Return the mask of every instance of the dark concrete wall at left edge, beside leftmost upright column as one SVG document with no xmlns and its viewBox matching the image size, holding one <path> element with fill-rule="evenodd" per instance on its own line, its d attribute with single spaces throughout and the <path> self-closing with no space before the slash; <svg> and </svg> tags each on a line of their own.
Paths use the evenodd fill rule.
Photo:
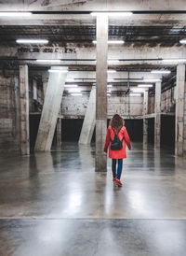
<svg viewBox="0 0 186 256">
<path fill-rule="evenodd" d="M 0 75 L 0 153 L 20 151 L 19 83 Z"/>
</svg>

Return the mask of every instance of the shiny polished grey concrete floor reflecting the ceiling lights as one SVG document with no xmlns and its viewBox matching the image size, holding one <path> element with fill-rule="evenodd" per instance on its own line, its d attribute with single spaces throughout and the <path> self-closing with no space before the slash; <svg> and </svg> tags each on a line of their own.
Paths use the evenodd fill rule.
<svg viewBox="0 0 186 256">
<path fill-rule="evenodd" d="M 185 255 L 186 159 L 133 143 L 116 188 L 94 158 L 66 144 L 0 160 L 0 255 Z"/>
</svg>

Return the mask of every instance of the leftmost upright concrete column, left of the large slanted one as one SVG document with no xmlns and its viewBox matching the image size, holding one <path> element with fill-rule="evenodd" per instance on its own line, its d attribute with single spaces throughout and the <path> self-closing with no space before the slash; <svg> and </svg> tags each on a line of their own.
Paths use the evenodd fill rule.
<svg viewBox="0 0 186 256">
<path fill-rule="evenodd" d="M 30 154 L 28 65 L 20 65 L 20 152 Z"/>
</svg>

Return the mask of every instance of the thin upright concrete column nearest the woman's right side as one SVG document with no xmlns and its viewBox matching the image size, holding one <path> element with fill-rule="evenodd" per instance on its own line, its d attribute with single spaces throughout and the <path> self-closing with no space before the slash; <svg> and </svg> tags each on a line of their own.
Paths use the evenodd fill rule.
<svg viewBox="0 0 186 256">
<path fill-rule="evenodd" d="M 143 95 L 143 149 L 147 149 L 148 145 L 148 120 L 145 115 L 148 114 L 148 91 L 144 92 Z"/>
</svg>

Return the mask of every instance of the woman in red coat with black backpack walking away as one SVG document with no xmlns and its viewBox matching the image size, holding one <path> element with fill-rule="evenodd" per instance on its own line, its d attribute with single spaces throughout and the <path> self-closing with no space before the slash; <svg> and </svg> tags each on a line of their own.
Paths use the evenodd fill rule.
<svg viewBox="0 0 186 256">
<path fill-rule="evenodd" d="M 124 126 L 124 119 L 115 114 L 107 130 L 104 154 L 107 155 L 109 147 L 109 157 L 112 158 L 113 182 L 119 187 L 122 186 L 120 181 L 123 167 L 123 159 L 126 158 L 126 145 L 131 149 L 130 139 Z M 116 173 L 117 162 L 117 173 Z"/>
</svg>

